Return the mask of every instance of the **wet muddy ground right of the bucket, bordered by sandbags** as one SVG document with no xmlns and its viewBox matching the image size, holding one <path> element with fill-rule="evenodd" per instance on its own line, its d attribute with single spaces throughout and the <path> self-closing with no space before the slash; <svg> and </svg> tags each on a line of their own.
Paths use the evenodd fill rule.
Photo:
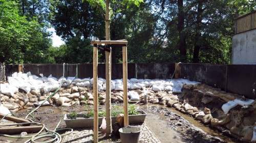
<svg viewBox="0 0 256 143">
<path fill-rule="evenodd" d="M 193 117 L 185 115 L 174 108 L 157 104 L 140 106 L 148 116 L 146 124 L 163 143 L 169 142 L 241 142 L 227 137 Z"/>
</svg>

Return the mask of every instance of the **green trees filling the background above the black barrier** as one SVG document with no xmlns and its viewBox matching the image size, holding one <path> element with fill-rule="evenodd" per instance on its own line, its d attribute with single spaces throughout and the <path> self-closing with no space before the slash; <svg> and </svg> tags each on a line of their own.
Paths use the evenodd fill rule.
<svg viewBox="0 0 256 143">
<path fill-rule="evenodd" d="M 129 62 L 229 64 L 234 18 L 256 2 L 111 0 L 110 6 L 110 39 L 128 40 Z M 105 39 L 104 12 L 103 0 L 0 0 L 0 62 L 90 63 L 90 40 Z M 52 46 L 50 27 L 66 44 Z M 113 52 L 120 62 L 121 49 Z"/>
</svg>

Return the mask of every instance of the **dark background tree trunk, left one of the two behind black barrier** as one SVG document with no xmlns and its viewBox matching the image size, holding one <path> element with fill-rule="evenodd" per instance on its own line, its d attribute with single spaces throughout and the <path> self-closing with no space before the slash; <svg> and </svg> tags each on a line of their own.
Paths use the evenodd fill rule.
<svg viewBox="0 0 256 143">
<path fill-rule="evenodd" d="M 178 32 L 179 32 L 179 50 L 181 62 L 186 62 L 186 35 L 184 32 L 185 14 L 183 9 L 183 0 L 177 1 L 178 5 Z"/>
</svg>

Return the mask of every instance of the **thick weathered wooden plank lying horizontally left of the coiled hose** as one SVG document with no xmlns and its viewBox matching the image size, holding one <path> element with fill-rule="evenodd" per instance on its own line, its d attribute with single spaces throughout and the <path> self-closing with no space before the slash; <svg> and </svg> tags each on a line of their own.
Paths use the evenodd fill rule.
<svg viewBox="0 0 256 143">
<path fill-rule="evenodd" d="M 42 129 L 42 126 L 19 126 L 19 127 L 1 127 L 0 133 L 2 134 L 15 134 L 21 132 L 38 132 Z"/>
</svg>

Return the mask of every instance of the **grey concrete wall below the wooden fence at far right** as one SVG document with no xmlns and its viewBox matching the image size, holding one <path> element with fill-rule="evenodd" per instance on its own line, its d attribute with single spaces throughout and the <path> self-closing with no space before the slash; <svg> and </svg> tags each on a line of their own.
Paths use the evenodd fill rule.
<svg viewBox="0 0 256 143">
<path fill-rule="evenodd" d="M 256 65 L 256 29 L 233 36 L 232 64 Z"/>
</svg>

